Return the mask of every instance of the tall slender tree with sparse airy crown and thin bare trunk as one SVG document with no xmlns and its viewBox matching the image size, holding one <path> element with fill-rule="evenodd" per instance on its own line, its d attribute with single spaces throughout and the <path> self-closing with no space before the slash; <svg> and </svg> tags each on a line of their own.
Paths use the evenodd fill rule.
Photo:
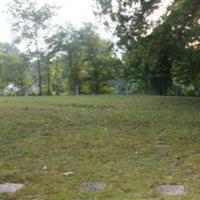
<svg viewBox="0 0 200 200">
<path fill-rule="evenodd" d="M 12 20 L 12 31 L 17 43 L 26 41 L 31 56 L 37 60 L 39 95 L 42 95 L 41 52 L 43 38 L 49 21 L 55 14 L 55 7 L 39 6 L 36 0 L 12 0 L 8 6 Z M 42 44 L 42 45 L 40 45 Z"/>
</svg>

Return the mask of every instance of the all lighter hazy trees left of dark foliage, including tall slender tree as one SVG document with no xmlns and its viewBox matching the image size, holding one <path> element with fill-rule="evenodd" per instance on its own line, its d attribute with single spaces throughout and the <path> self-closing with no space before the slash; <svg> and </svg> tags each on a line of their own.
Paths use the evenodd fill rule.
<svg viewBox="0 0 200 200">
<path fill-rule="evenodd" d="M 10 84 L 18 93 L 39 95 L 108 92 L 109 81 L 119 76 L 121 61 L 113 45 L 86 23 L 51 29 L 56 7 L 33 0 L 13 0 L 8 6 L 15 43 L 1 44 L 1 91 Z M 12 47 L 12 48 L 11 48 Z"/>
</svg>

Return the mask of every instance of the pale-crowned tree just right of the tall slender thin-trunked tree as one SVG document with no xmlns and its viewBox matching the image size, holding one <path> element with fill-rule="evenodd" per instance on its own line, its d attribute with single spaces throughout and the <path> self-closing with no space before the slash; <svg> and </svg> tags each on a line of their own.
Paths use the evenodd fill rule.
<svg viewBox="0 0 200 200">
<path fill-rule="evenodd" d="M 80 93 L 84 49 L 78 30 L 70 24 L 66 28 L 60 27 L 55 35 L 48 38 L 47 42 L 50 49 L 49 55 L 52 58 L 60 56 L 64 60 L 64 75 L 66 76 L 67 73 L 69 91 Z"/>
</svg>

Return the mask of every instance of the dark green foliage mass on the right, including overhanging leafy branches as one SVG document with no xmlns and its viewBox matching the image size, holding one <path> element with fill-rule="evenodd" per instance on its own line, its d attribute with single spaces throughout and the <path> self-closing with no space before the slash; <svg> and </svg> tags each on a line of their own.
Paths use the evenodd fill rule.
<svg viewBox="0 0 200 200">
<path fill-rule="evenodd" d="M 164 95 L 176 83 L 198 90 L 198 0 L 174 1 L 154 27 L 150 16 L 160 8 L 160 1 L 97 2 L 98 12 L 114 22 L 119 46 L 125 50 L 125 79 L 143 82 L 146 92 Z"/>
</svg>

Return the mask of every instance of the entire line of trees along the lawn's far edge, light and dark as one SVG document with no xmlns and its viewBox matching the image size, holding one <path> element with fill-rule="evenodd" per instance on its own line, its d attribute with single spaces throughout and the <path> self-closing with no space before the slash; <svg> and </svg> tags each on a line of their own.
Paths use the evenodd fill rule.
<svg viewBox="0 0 200 200">
<path fill-rule="evenodd" d="M 199 0 L 174 0 L 156 22 L 161 0 L 95 1 L 96 15 L 114 26 L 120 57 L 91 23 L 50 29 L 56 7 L 13 0 L 15 43 L 0 44 L 0 92 L 14 85 L 19 95 L 200 95 Z"/>
</svg>

